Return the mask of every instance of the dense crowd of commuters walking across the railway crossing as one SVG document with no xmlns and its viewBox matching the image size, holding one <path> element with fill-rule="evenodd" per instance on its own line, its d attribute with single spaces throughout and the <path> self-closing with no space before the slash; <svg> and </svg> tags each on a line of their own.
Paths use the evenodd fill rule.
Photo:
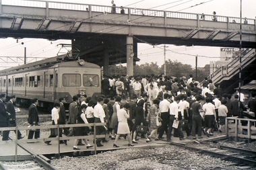
<svg viewBox="0 0 256 170">
<path fill-rule="evenodd" d="M 238 95 L 241 95 L 239 97 Z M 255 112 L 255 93 L 248 102 L 250 112 Z M 59 98 L 51 111 L 52 124 L 89 124 L 104 123 L 104 126 L 96 126 L 96 134 L 103 134 L 104 138 L 96 138 L 92 141 L 96 146 L 103 146 L 108 138 L 113 140 L 113 147 L 119 147 L 118 140 L 121 136 L 127 138 L 128 146 L 137 144 L 137 136 L 145 138 L 146 142 L 160 140 L 166 134 L 166 140 L 177 137 L 184 140 L 185 136 L 191 138 L 203 138 L 213 135 L 214 130 L 222 132 L 227 116 L 241 116 L 241 110 L 245 108 L 245 96 L 243 93 L 234 95 L 222 93 L 220 85 L 214 85 L 211 80 L 205 78 L 202 83 L 195 81 L 193 75 L 186 77 L 160 76 L 116 76 L 102 79 L 102 95 L 97 101 L 86 95 L 74 95 L 73 102 L 69 104 L 69 118 L 65 116 L 65 98 Z M 9 97 L 7 108 L 3 104 L 5 95 L 0 95 L 0 125 L 1 127 L 16 126 L 15 110 L 13 103 L 15 96 Z M 38 126 L 38 111 L 36 106 L 38 99 L 32 99 L 28 110 L 28 123 L 30 126 Z M 11 118 L 11 122 L 9 121 Z M 145 132 L 139 131 L 139 127 L 146 127 Z M 184 135 L 185 131 L 186 135 Z M 59 136 L 84 136 L 75 140 L 74 150 L 79 150 L 79 145 L 90 148 L 93 144 L 88 142 L 86 136 L 93 134 L 90 126 L 77 128 L 61 128 Z M 196 137 L 197 134 L 197 137 Z M 49 138 L 58 135 L 57 128 L 51 129 Z M 8 140 L 9 132 L 3 132 L 3 140 Z M 18 139 L 24 138 L 18 131 Z M 28 139 L 40 137 L 40 130 L 29 130 Z M 82 142 L 84 141 L 84 143 Z M 67 140 L 60 143 L 67 145 Z M 51 145 L 51 140 L 45 140 Z"/>
</svg>

